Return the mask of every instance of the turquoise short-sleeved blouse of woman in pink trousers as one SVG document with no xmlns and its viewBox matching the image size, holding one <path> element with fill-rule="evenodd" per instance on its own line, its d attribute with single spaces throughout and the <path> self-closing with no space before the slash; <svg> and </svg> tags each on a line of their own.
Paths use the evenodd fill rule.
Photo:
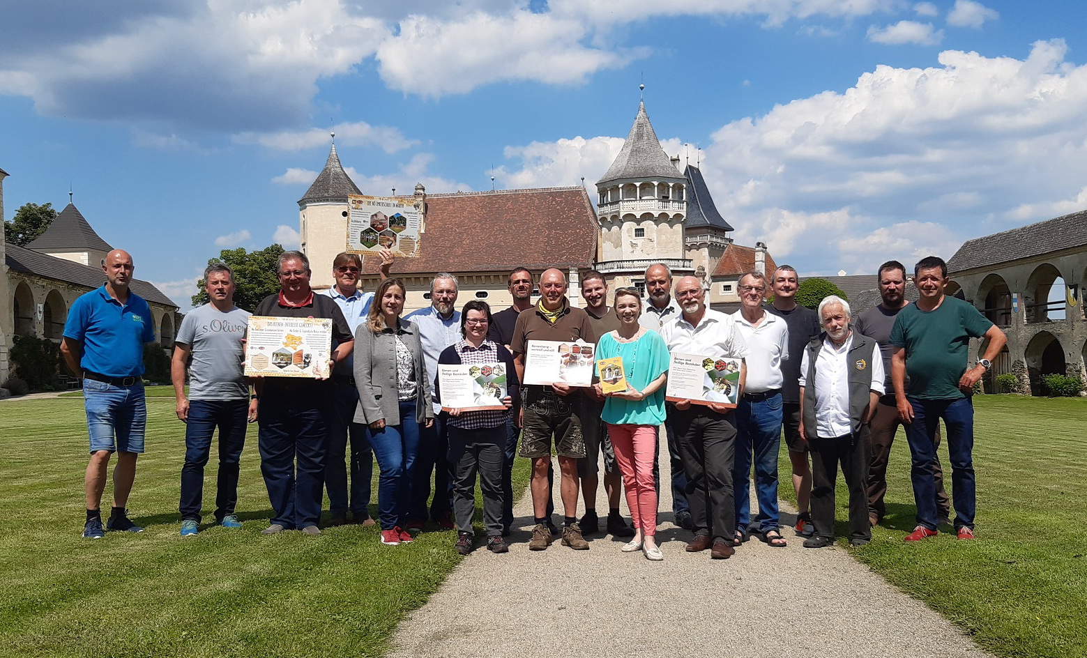
<svg viewBox="0 0 1087 658">
<path fill-rule="evenodd" d="M 623 357 L 626 381 L 639 391 L 669 370 L 669 346 L 655 331 L 646 331 L 645 336 L 628 343 L 621 343 L 610 332 L 605 333 L 597 341 L 597 358 L 615 356 Z M 639 401 L 608 396 L 600 417 L 611 425 L 660 425 L 664 422 L 664 387 Z"/>
</svg>

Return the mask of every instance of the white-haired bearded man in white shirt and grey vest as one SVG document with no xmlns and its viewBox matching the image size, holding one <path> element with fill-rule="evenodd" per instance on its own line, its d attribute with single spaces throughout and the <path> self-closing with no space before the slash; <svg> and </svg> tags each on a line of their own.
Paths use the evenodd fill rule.
<svg viewBox="0 0 1087 658">
<path fill-rule="evenodd" d="M 800 433 L 812 455 L 812 524 L 804 548 L 834 543 L 834 489 L 838 464 L 849 489 L 849 543 L 872 540 L 869 526 L 869 422 L 884 392 L 879 344 L 850 327 L 849 303 L 824 299 L 819 317 L 825 330 L 804 350 L 800 366 Z"/>
</svg>

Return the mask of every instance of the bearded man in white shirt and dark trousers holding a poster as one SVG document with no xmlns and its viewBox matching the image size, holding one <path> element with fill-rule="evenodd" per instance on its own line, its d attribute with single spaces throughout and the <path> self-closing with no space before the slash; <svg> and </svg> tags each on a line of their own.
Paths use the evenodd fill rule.
<svg viewBox="0 0 1087 658">
<path fill-rule="evenodd" d="M 745 358 L 748 354 L 736 324 L 724 313 L 705 307 L 705 291 L 697 277 L 683 277 L 676 284 L 683 315 L 661 328 L 669 352 L 710 358 Z M 740 367 L 740 391 L 747 366 Z M 710 557 L 724 559 L 736 553 L 733 533 L 733 459 L 736 426 L 733 409 L 723 403 L 694 405 L 675 403 L 670 420 L 675 427 L 679 456 L 687 474 L 687 503 L 695 539 L 689 553 L 711 548 Z"/>
</svg>

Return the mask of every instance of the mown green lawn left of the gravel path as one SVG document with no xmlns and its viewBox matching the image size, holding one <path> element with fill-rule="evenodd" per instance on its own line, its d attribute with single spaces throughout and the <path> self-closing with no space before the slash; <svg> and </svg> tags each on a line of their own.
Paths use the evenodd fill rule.
<svg viewBox="0 0 1087 658">
<path fill-rule="evenodd" d="M 242 455 L 243 527 L 183 540 L 184 430 L 172 390 L 148 394 L 148 453 L 129 502 L 147 530 L 99 541 L 79 536 L 82 398 L 0 403 L 0 656 L 379 656 L 397 622 L 460 560 L 452 532 L 398 547 L 359 526 L 317 537 L 261 535 L 270 509 L 255 428 Z M 514 488 L 523 491 L 527 460 L 517 461 Z M 214 501 L 213 465 L 205 505 Z"/>
</svg>

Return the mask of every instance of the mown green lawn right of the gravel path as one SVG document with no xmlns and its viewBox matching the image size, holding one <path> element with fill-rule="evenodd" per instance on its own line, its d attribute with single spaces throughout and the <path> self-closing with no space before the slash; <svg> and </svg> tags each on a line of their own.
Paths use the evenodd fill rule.
<svg viewBox="0 0 1087 658">
<path fill-rule="evenodd" d="M 977 540 L 960 542 L 944 527 L 937 537 L 902 541 L 915 524 L 915 508 L 910 451 L 899 431 L 887 518 L 874 541 L 852 553 L 998 656 L 1087 656 L 1087 400 L 975 401 Z M 950 494 L 946 448 L 941 461 Z M 788 458 L 780 464 L 782 494 L 791 496 Z M 839 486 L 842 520 L 846 496 Z M 842 522 L 838 533 L 848 534 Z"/>
</svg>

